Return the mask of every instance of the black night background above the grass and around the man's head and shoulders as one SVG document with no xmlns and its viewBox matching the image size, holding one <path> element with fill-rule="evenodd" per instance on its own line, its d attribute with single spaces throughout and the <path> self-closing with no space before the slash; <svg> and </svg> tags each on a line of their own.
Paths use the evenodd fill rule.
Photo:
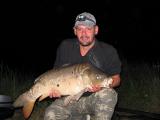
<svg viewBox="0 0 160 120">
<path fill-rule="evenodd" d="M 1 2 L 1 61 L 13 67 L 52 68 L 59 43 L 74 37 L 75 17 L 91 12 L 97 38 L 131 60 L 159 61 L 160 13 L 154 1 L 29 0 Z"/>
</svg>

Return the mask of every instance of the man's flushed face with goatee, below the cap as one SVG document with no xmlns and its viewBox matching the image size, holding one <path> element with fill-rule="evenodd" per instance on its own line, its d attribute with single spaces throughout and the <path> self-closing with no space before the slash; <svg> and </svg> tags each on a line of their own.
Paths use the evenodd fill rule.
<svg viewBox="0 0 160 120">
<path fill-rule="evenodd" d="M 98 33 L 98 26 L 88 27 L 78 25 L 74 28 L 74 33 L 82 46 L 89 46 L 95 40 L 95 35 Z"/>
</svg>

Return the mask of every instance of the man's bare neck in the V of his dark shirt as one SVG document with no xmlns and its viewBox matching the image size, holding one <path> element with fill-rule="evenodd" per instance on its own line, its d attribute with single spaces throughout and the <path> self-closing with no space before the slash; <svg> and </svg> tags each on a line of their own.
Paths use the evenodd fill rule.
<svg viewBox="0 0 160 120">
<path fill-rule="evenodd" d="M 81 55 L 85 56 L 88 53 L 88 51 L 94 46 L 94 44 L 95 44 L 95 41 L 92 44 L 90 44 L 89 46 L 80 45 L 80 53 L 81 53 Z"/>
</svg>

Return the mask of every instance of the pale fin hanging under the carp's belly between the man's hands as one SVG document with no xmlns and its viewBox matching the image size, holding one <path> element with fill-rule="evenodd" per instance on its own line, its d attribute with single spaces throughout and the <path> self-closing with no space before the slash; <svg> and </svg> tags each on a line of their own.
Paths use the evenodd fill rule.
<svg viewBox="0 0 160 120">
<path fill-rule="evenodd" d="M 69 103 L 72 103 L 74 101 L 78 101 L 84 92 L 86 92 L 86 89 L 83 89 L 81 92 L 79 92 L 75 95 L 67 96 L 64 100 L 64 105 L 67 106 Z"/>
</svg>

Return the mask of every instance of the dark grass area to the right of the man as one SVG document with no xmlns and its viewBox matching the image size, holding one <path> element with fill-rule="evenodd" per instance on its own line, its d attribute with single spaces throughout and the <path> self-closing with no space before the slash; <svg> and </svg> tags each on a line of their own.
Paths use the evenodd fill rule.
<svg viewBox="0 0 160 120">
<path fill-rule="evenodd" d="M 119 107 L 160 113 L 160 63 L 128 63 L 122 67 Z"/>
</svg>

